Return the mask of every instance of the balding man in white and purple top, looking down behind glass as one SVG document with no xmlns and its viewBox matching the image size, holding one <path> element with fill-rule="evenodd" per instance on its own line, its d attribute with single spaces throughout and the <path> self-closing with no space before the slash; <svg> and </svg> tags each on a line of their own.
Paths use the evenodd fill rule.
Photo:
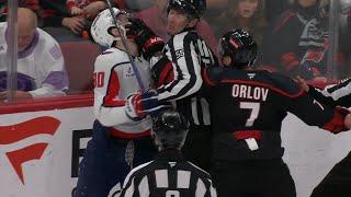
<svg viewBox="0 0 351 197">
<path fill-rule="evenodd" d="M 37 27 L 33 11 L 20 8 L 18 12 L 18 91 L 14 99 L 65 95 L 68 77 L 57 42 Z M 7 23 L 0 23 L 0 100 L 7 100 Z"/>
</svg>

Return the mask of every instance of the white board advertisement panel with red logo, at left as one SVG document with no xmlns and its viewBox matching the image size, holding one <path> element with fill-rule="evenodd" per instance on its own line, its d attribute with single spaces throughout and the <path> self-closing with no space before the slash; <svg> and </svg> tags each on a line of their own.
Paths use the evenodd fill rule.
<svg viewBox="0 0 351 197">
<path fill-rule="evenodd" d="M 70 197 L 92 107 L 0 115 L 1 197 Z"/>
</svg>

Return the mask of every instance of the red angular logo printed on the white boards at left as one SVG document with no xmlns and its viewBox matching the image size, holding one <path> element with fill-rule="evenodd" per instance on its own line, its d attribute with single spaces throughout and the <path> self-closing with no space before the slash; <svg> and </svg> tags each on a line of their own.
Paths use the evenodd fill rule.
<svg viewBox="0 0 351 197">
<path fill-rule="evenodd" d="M 15 125 L 0 126 L 0 146 L 11 144 L 41 134 L 54 136 L 59 124 L 60 121 L 56 118 L 43 116 Z M 5 153 L 23 185 L 22 164 L 39 160 L 47 146 L 46 142 L 38 142 Z"/>
</svg>

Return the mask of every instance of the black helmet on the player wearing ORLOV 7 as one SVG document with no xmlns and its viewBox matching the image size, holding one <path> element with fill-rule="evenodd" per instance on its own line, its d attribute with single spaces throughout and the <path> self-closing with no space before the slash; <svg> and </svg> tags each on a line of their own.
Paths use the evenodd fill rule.
<svg viewBox="0 0 351 197">
<path fill-rule="evenodd" d="M 257 44 L 245 30 L 231 30 L 219 39 L 219 54 L 231 58 L 231 67 L 252 66 L 257 56 Z"/>
</svg>

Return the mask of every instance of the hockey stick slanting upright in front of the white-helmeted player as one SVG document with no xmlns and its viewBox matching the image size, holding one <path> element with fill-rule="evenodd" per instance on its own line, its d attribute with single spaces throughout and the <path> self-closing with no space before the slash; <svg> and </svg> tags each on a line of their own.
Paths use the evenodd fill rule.
<svg viewBox="0 0 351 197">
<path fill-rule="evenodd" d="M 121 32 L 121 26 L 122 26 L 122 25 L 118 23 L 116 16 L 115 16 L 115 14 L 114 14 L 114 11 L 113 11 L 113 9 L 112 9 L 111 1 L 110 1 L 110 0 L 105 0 L 105 1 L 106 1 L 107 5 L 109 5 L 109 10 L 110 10 L 111 16 L 112 16 L 112 19 L 113 19 L 114 25 L 115 25 L 116 28 L 117 28 L 117 32 L 118 32 L 118 35 L 120 35 L 120 37 L 121 37 L 123 47 L 125 48 L 125 51 L 126 51 L 126 54 L 127 54 L 127 56 L 128 56 L 128 59 L 129 59 L 129 61 L 131 61 L 133 71 L 134 71 L 135 77 L 136 77 L 136 79 L 137 79 L 137 81 L 138 81 L 138 84 L 139 84 L 139 86 L 140 86 L 140 90 L 141 90 L 141 92 L 145 92 L 146 90 L 145 90 L 144 83 L 143 83 L 143 81 L 141 81 L 140 72 L 138 71 L 138 69 L 137 69 L 136 66 L 135 66 L 135 61 L 134 61 L 133 58 L 132 58 L 131 50 L 129 50 L 129 48 L 128 48 L 128 46 L 127 46 L 127 43 L 126 43 L 126 38 L 124 37 L 124 34 Z"/>
</svg>

